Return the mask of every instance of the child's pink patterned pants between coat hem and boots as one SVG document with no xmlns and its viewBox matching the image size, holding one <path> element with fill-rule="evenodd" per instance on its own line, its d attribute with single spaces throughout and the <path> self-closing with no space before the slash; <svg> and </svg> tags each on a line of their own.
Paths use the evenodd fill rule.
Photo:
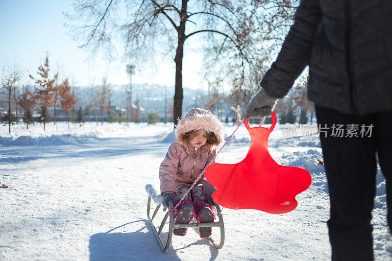
<svg viewBox="0 0 392 261">
<path fill-rule="evenodd" d="M 174 199 L 174 206 L 177 205 L 177 203 L 180 201 L 180 199 L 185 195 L 185 193 L 189 190 L 189 188 L 185 185 L 178 185 L 176 187 L 177 190 L 177 196 Z M 215 207 L 211 206 L 206 197 L 203 194 L 203 186 L 195 186 L 186 196 L 185 198 L 180 202 L 178 207 L 174 210 L 174 215 L 177 215 L 177 212 L 184 206 L 185 204 L 192 204 L 196 216 L 194 217 L 196 221 L 198 221 L 198 214 L 200 210 L 204 207 L 207 207 L 211 209 L 211 211 L 216 214 Z"/>
</svg>

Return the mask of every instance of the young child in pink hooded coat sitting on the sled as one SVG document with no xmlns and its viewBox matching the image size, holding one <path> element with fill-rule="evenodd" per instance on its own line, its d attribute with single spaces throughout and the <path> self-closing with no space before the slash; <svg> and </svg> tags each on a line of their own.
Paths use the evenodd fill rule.
<svg viewBox="0 0 392 261">
<path fill-rule="evenodd" d="M 216 147 L 223 142 L 223 124 L 208 110 L 192 109 L 175 126 L 176 141 L 173 142 L 159 167 L 163 205 L 169 201 L 175 206 L 197 176 L 214 162 Z M 215 208 L 212 193 L 215 188 L 201 177 L 195 187 L 185 196 L 176 209 L 176 223 L 213 222 Z M 173 234 L 184 236 L 186 228 L 174 229 Z M 211 227 L 199 228 L 200 237 L 209 237 Z"/>
</svg>

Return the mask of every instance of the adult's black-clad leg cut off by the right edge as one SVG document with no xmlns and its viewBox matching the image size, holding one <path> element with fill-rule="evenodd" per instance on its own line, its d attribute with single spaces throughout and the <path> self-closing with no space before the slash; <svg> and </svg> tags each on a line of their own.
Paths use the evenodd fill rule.
<svg viewBox="0 0 392 261">
<path fill-rule="evenodd" d="M 377 114 L 375 128 L 378 160 L 387 180 L 388 224 L 392 230 L 392 112 Z"/>
</svg>

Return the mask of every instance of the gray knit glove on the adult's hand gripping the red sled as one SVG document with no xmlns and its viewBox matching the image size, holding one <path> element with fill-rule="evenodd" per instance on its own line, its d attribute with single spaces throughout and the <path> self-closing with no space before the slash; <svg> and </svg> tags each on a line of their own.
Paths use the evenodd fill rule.
<svg viewBox="0 0 392 261">
<path fill-rule="evenodd" d="M 264 89 L 253 96 L 246 109 L 245 118 L 263 118 L 271 115 L 275 108 L 277 98 L 271 97 Z"/>
</svg>

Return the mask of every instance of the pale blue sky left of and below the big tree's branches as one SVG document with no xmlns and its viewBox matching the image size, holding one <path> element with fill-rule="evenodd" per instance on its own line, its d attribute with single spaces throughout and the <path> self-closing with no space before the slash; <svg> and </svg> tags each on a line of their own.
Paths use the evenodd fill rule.
<svg viewBox="0 0 392 261">
<path fill-rule="evenodd" d="M 77 86 L 101 83 L 107 77 L 112 84 L 126 84 L 125 63 L 121 57 L 108 64 L 103 54 L 88 59 L 89 52 L 77 46 L 68 35 L 64 23 L 70 24 L 63 12 L 73 12 L 73 0 L 0 0 L 0 67 L 5 61 L 19 62 L 25 71 L 22 84 L 29 84 L 28 73 L 35 75 L 40 60 L 49 52 L 52 72 L 58 67 L 60 78 L 70 78 Z M 121 51 L 120 51 L 121 54 Z M 139 68 L 134 83 L 174 85 L 174 63 L 157 61 L 154 68 Z M 192 63 L 187 63 L 192 61 Z M 200 88 L 199 55 L 192 52 L 184 57 L 184 87 Z M 138 67 L 137 67 L 138 69 Z"/>
</svg>

